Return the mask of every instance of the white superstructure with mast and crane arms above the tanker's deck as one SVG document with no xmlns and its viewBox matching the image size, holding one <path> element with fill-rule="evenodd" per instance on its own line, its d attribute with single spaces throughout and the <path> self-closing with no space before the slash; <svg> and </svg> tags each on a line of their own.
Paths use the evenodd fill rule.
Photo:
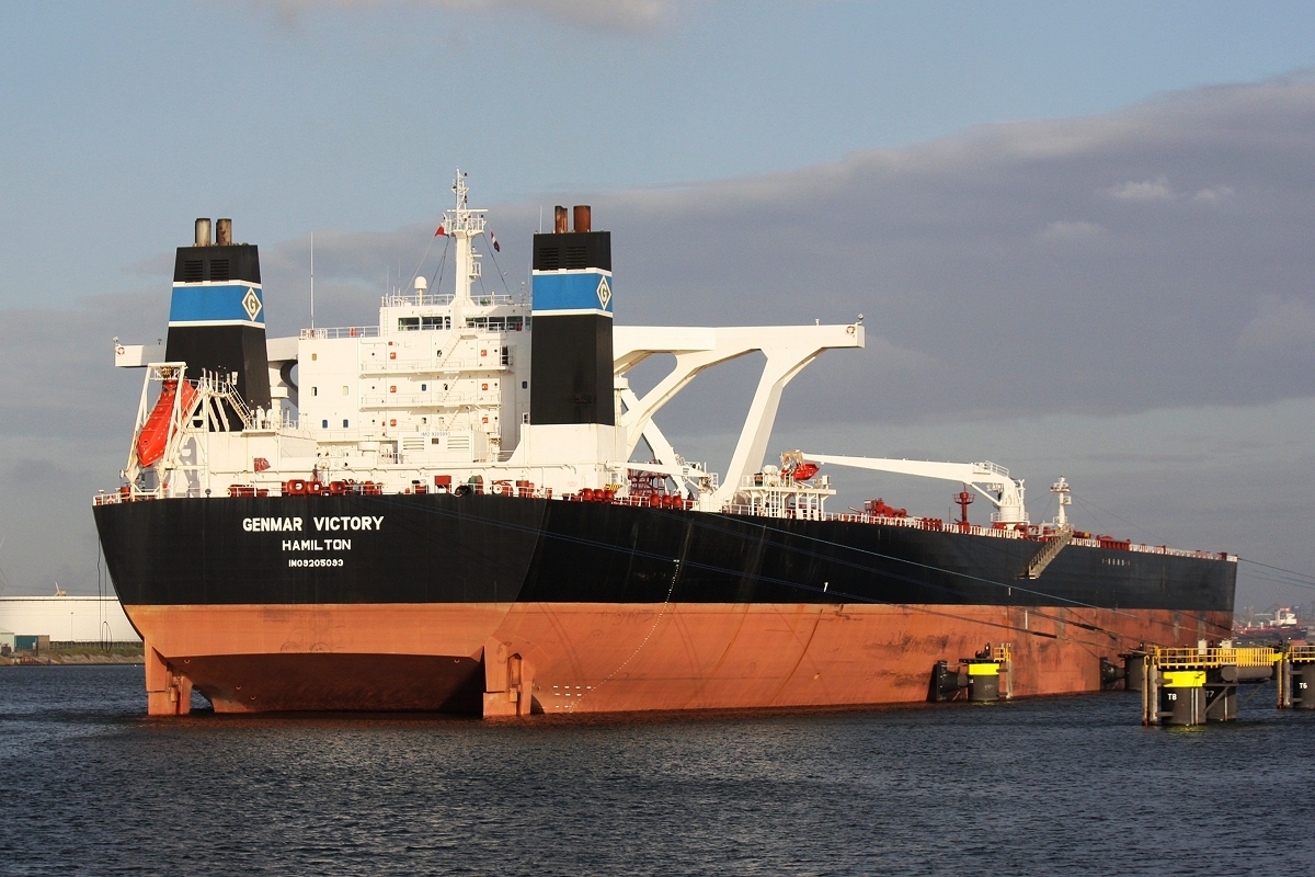
<svg viewBox="0 0 1315 877">
<path fill-rule="evenodd" d="M 598 418 L 613 422 L 531 422 L 534 301 L 529 295 L 483 291 L 483 254 L 476 245 L 490 241 L 485 212 L 468 205 L 460 171 L 452 191 L 455 204 L 443 214 L 439 233 L 455 245 L 454 288 L 442 291 L 438 280 L 438 288 L 430 289 L 417 276 L 408 292 L 383 297 L 376 326 L 313 327 L 299 337 L 267 339 L 268 409 L 247 409 L 235 375 L 195 373 L 187 363 L 164 362 L 162 346 L 128 346 L 116 339 L 116 364 L 146 367 L 147 375 L 122 473 L 126 484 L 97 501 L 473 490 L 814 521 L 855 518 L 826 514 L 826 500 L 835 490 L 827 475 L 818 475 L 818 464 L 831 464 L 970 486 L 995 511 L 986 529 L 955 525 L 964 533 L 1027 538 L 1072 529 L 1064 514 L 1069 496 L 1063 479 L 1052 488 L 1060 493 L 1059 523 L 1030 525 L 1023 483 L 989 462 L 794 451 L 781 458 L 780 467 L 764 465 L 785 385 L 825 350 L 863 347 L 861 316 L 844 325 L 615 326 L 609 330 L 615 417 Z M 579 210 L 588 222 L 588 208 Z M 559 208 L 559 230 L 564 230 L 563 216 Z M 208 225 L 199 221 L 203 247 L 205 235 Z M 188 250 L 180 259 L 197 252 Z M 554 275 L 550 280 L 560 281 L 544 284 L 546 289 L 597 283 L 598 304 L 590 313 L 605 314 L 610 326 L 610 256 L 608 270 L 594 270 L 585 280 L 572 276 L 581 272 L 569 263 L 560 271 L 537 267 L 534 273 L 535 280 Z M 562 285 L 572 283 L 576 287 Z M 181 288 L 199 296 L 205 287 L 188 281 L 185 266 L 175 280 L 175 292 Z M 588 288 L 592 300 L 593 287 Z M 700 372 L 751 352 L 764 354 L 767 362 L 734 455 L 719 477 L 681 458 L 655 417 Z M 661 354 L 671 354 L 675 364 L 640 397 L 629 373 Z M 185 392 L 176 392 L 180 377 L 191 387 Z M 154 452 L 147 450 L 151 442 Z M 857 517 L 942 526 L 902 511 Z"/>
</svg>

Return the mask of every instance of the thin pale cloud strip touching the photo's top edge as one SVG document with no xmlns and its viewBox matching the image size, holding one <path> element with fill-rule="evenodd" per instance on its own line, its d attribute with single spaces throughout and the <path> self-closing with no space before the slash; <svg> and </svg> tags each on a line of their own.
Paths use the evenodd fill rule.
<svg viewBox="0 0 1315 877">
<path fill-rule="evenodd" d="M 677 0 L 246 0 L 252 7 L 272 8 L 285 20 L 317 9 L 376 9 L 381 7 L 430 7 L 448 12 L 480 9 L 530 9 L 547 18 L 596 30 L 654 30 L 671 18 Z"/>
</svg>

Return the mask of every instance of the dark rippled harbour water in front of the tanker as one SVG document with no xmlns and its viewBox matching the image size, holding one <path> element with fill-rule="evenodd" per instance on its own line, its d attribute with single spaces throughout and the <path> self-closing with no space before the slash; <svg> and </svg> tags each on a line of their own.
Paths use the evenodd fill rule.
<svg viewBox="0 0 1315 877">
<path fill-rule="evenodd" d="M 1256 689 L 1244 689 L 1247 697 Z M 1135 694 L 852 713 L 185 719 L 0 668 L 0 873 L 1315 870 L 1315 714 Z"/>
</svg>

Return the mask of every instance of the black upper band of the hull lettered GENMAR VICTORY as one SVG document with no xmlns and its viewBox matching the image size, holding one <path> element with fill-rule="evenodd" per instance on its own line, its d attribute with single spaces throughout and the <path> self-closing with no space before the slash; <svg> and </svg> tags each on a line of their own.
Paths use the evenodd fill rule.
<svg viewBox="0 0 1315 877">
<path fill-rule="evenodd" d="M 498 496 L 197 498 L 95 511 L 110 575 L 132 605 L 673 600 L 1232 611 L 1236 571 L 1218 559 L 1070 546 L 1026 581 L 1041 542 Z"/>
</svg>

